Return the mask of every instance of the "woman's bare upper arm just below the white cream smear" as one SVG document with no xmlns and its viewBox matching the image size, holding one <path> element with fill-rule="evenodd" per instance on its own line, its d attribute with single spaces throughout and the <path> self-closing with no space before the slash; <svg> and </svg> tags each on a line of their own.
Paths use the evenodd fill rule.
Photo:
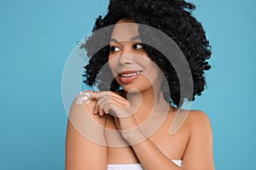
<svg viewBox="0 0 256 170">
<path fill-rule="evenodd" d="M 89 105 L 73 102 L 66 139 L 66 169 L 107 169 L 107 147 L 104 138 L 105 118 L 92 114 L 95 101 Z"/>
</svg>

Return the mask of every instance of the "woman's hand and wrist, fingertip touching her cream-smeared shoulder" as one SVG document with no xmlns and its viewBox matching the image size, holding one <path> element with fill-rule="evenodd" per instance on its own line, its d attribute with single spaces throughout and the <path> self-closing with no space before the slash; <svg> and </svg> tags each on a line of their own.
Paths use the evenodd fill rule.
<svg viewBox="0 0 256 170">
<path fill-rule="evenodd" d="M 137 126 L 134 116 L 137 108 L 132 108 L 129 100 L 123 98 L 119 94 L 106 92 L 92 92 L 92 99 L 96 99 L 94 114 L 103 116 L 109 114 L 114 116 L 116 126 L 123 138 L 130 144 L 141 139 L 143 133 Z"/>
</svg>

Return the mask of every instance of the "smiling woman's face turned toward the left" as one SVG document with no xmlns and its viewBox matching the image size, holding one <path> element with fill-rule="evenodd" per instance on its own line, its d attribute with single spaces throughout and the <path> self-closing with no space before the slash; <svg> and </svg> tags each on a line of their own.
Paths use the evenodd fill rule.
<svg viewBox="0 0 256 170">
<path fill-rule="evenodd" d="M 160 89 L 160 68 L 148 57 L 133 20 L 119 20 L 113 27 L 108 65 L 126 92 Z"/>
</svg>

